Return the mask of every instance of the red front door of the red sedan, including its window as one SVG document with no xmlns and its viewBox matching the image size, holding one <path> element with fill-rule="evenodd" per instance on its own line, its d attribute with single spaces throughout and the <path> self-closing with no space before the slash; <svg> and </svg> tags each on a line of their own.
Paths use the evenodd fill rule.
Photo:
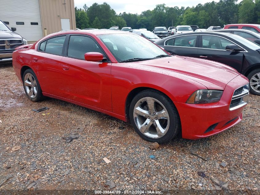
<svg viewBox="0 0 260 195">
<path fill-rule="evenodd" d="M 89 62 L 87 52 L 104 52 L 93 38 L 71 35 L 61 60 L 63 97 L 112 112 L 111 63 Z"/>
</svg>

